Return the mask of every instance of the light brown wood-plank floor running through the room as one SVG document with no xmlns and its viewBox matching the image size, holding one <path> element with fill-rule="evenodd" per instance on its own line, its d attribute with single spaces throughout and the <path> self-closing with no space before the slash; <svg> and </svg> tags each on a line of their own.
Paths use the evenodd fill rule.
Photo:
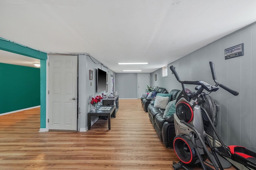
<svg viewBox="0 0 256 170">
<path fill-rule="evenodd" d="M 87 132 L 38 132 L 40 108 L 0 116 L 0 170 L 170 170 L 174 150 L 158 138 L 140 99 L 120 99 L 116 118 Z"/>
</svg>

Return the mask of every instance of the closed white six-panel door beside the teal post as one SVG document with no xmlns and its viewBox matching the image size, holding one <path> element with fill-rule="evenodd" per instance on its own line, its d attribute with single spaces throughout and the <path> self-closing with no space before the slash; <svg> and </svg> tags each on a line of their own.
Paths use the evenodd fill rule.
<svg viewBox="0 0 256 170">
<path fill-rule="evenodd" d="M 78 56 L 49 56 L 49 130 L 77 130 Z"/>
</svg>

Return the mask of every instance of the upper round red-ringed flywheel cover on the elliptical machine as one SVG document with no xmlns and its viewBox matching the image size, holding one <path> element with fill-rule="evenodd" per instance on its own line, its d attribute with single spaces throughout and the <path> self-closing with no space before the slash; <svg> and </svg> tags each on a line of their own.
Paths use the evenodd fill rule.
<svg viewBox="0 0 256 170">
<path fill-rule="evenodd" d="M 190 123 L 193 120 L 193 109 L 186 102 L 180 102 L 176 107 L 176 115 L 180 120 Z"/>
</svg>

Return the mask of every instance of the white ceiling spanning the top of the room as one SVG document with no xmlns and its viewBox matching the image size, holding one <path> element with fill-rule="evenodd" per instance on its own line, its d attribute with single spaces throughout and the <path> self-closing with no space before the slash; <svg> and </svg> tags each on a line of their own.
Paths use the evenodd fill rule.
<svg viewBox="0 0 256 170">
<path fill-rule="evenodd" d="M 256 0 L 0 0 L 0 37 L 89 53 L 116 73 L 151 73 L 253 22 Z M 0 50 L 2 63 L 31 66 L 30 59 Z"/>
</svg>

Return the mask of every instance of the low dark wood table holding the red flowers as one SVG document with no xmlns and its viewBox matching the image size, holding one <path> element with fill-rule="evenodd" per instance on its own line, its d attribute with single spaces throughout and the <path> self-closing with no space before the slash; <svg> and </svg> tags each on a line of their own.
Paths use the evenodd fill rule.
<svg viewBox="0 0 256 170">
<path fill-rule="evenodd" d="M 99 110 L 102 107 L 111 107 L 110 110 Z M 110 124 L 110 119 L 112 113 L 116 113 L 116 105 L 113 106 L 102 106 L 99 109 L 96 109 L 95 112 L 88 112 L 88 130 L 91 129 L 91 116 L 107 116 L 108 117 L 108 129 L 110 130 L 111 124 Z"/>
</svg>

